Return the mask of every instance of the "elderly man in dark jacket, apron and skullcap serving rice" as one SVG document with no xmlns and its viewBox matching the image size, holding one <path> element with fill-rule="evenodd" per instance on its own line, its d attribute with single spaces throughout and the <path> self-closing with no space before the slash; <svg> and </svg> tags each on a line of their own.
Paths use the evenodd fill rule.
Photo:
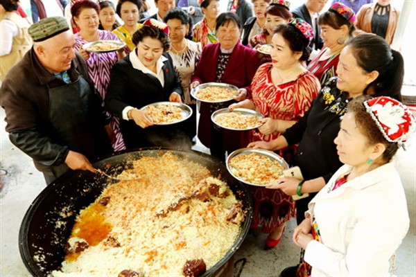
<svg viewBox="0 0 416 277">
<path fill-rule="evenodd" d="M 69 168 L 95 172 L 88 159 L 112 151 L 112 131 L 83 57 L 73 51 L 73 33 L 63 17 L 42 19 L 28 32 L 34 45 L 0 91 L 10 141 L 33 158 L 47 184 Z"/>
</svg>

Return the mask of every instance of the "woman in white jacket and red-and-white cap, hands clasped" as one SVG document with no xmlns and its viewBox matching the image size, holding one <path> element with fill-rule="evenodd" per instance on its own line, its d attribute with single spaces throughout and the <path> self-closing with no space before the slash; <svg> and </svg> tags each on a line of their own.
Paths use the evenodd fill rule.
<svg viewBox="0 0 416 277">
<path fill-rule="evenodd" d="M 305 250 L 298 276 L 388 276 L 389 259 L 408 231 L 406 197 L 391 160 L 415 132 L 415 117 L 392 98 L 368 99 L 349 102 L 334 140 L 345 166 L 311 200 L 293 234 Z"/>
</svg>

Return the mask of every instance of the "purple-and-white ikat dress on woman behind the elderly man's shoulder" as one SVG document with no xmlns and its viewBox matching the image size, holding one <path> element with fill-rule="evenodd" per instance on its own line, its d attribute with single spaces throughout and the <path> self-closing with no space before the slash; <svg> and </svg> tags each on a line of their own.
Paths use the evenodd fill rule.
<svg viewBox="0 0 416 277">
<path fill-rule="evenodd" d="M 100 40 L 116 40 L 119 41 L 119 37 L 107 30 L 98 30 Z M 75 50 L 79 51 L 80 46 L 87 44 L 88 42 L 80 36 L 80 33 L 75 35 Z M 110 82 L 110 73 L 112 66 L 117 62 L 118 57 L 117 53 L 108 52 L 108 53 L 89 53 L 89 59 L 85 62 L 87 63 L 87 69 L 89 78 L 91 78 L 94 87 L 100 93 L 101 98 L 105 99 L 105 94 L 107 93 L 107 86 Z M 110 114 L 109 114 L 110 115 Z M 114 150 L 119 151 L 125 149 L 123 142 L 123 136 L 120 132 L 119 120 L 114 116 L 111 117 L 110 126 L 112 127 L 115 135 L 116 141 L 112 145 Z"/>
</svg>

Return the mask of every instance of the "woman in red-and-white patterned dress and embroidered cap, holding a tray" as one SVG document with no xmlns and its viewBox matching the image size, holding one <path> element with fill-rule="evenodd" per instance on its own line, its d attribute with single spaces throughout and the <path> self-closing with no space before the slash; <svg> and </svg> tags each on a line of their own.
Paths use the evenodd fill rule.
<svg viewBox="0 0 416 277">
<path fill-rule="evenodd" d="M 252 94 L 248 99 L 230 105 L 230 109 L 245 107 L 259 111 L 265 118 L 263 125 L 252 132 L 252 141 L 276 139 L 288 127 L 304 116 L 311 101 L 318 95 L 320 82 L 302 63 L 308 60 L 311 26 L 302 19 L 280 24 L 272 37 L 272 62 L 259 67 L 252 80 Z M 289 152 L 279 152 L 291 163 Z M 295 216 L 295 203 L 281 190 L 250 186 L 254 199 L 252 228 L 262 226 L 270 233 L 266 249 L 275 247 L 284 231 L 286 221 Z"/>
</svg>

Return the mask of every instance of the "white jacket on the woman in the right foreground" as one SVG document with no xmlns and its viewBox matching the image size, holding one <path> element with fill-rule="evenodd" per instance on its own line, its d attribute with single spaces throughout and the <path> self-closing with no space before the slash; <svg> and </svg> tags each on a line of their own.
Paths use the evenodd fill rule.
<svg viewBox="0 0 416 277">
<path fill-rule="evenodd" d="M 321 241 L 306 247 L 312 276 L 390 276 L 389 259 L 409 229 L 404 188 L 392 163 L 331 190 L 342 166 L 309 203 Z"/>
</svg>

